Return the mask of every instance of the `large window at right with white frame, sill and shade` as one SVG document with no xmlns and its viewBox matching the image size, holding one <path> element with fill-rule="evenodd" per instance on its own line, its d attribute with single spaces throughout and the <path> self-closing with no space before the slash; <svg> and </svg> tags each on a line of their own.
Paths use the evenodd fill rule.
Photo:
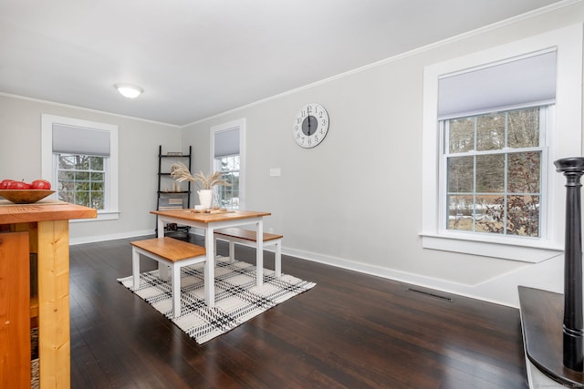
<svg viewBox="0 0 584 389">
<path fill-rule="evenodd" d="M 581 155 L 581 69 L 579 25 L 424 68 L 424 249 L 527 262 L 563 251 L 553 161 Z"/>
</svg>

